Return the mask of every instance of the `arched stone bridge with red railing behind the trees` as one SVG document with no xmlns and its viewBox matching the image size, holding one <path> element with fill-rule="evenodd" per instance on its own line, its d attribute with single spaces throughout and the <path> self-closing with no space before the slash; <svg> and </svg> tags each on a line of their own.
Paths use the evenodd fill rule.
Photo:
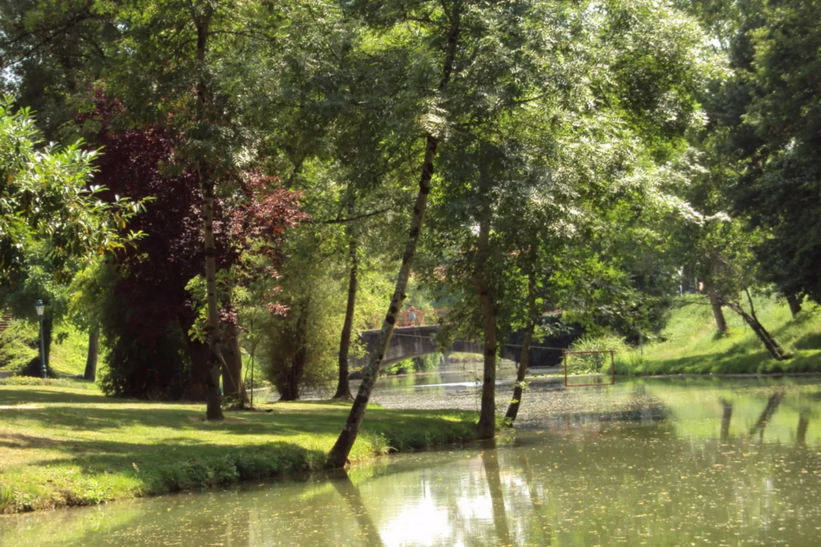
<svg viewBox="0 0 821 547">
<path fill-rule="evenodd" d="M 392 365 L 399 361 L 419 357 L 429 353 L 441 351 L 436 345 L 438 325 L 397 327 L 393 329 L 388 353 L 384 356 L 383 365 Z M 368 362 L 370 353 L 374 351 L 379 338 L 378 330 L 365 330 L 360 333 L 360 343 L 365 347 L 365 355 L 351 357 L 352 368 L 359 368 Z M 538 345 L 538 344 L 534 344 Z M 447 348 L 449 352 L 484 353 L 481 342 L 456 340 Z M 499 356 L 516 363 L 521 359 L 521 346 L 499 342 Z M 561 361 L 561 349 L 544 349 L 540 347 L 530 349 L 530 366 L 556 366 Z"/>
</svg>

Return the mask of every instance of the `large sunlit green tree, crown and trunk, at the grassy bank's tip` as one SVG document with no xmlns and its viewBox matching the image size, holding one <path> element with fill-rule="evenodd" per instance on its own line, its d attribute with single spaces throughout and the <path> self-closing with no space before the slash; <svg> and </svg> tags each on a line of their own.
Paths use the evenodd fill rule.
<svg viewBox="0 0 821 547">
<path fill-rule="evenodd" d="M 482 312 L 451 314 L 448 321 L 470 318 L 483 325 L 483 437 L 495 427 L 499 324 L 516 318 L 532 337 L 532 302 L 545 293 L 558 306 L 582 312 L 576 317 L 587 316 L 591 325 L 603 310 L 624 318 L 647 309 L 636 305 L 640 292 L 621 273 L 626 261 L 617 230 L 646 229 L 634 209 L 664 193 L 654 174 L 699 122 L 695 94 L 705 80 L 705 63 L 695 61 L 704 50 L 703 34 L 665 7 L 614 2 L 606 13 L 591 16 L 584 7 L 539 2 L 507 6 L 496 21 L 507 15 L 537 18 L 539 31 L 516 20 L 498 23 L 501 37 L 475 47 L 475 65 L 458 80 L 442 151 L 442 191 L 433 201 L 441 226 L 431 247 L 448 250 L 436 253 L 437 267 L 447 264 L 443 277 L 457 286 L 472 284 Z M 574 262 L 604 266 L 594 278 L 573 269 Z M 539 266 L 554 264 L 561 264 L 564 278 L 552 278 L 553 272 L 536 277 Z M 601 283 L 614 279 L 618 283 Z M 556 297 L 571 295 L 557 283 L 585 282 L 590 297 Z M 541 294 L 521 289 L 539 285 Z M 467 294 L 464 287 L 454 292 Z M 608 306 L 596 306 L 605 303 L 603 294 Z"/>
</svg>

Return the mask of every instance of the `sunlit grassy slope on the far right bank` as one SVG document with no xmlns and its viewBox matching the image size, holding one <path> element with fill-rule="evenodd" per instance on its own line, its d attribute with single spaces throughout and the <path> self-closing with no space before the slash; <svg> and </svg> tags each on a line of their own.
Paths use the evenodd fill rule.
<svg viewBox="0 0 821 547">
<path fill-rule="evenodd" d="M 640 352 L 621 355 L 618 368 L 636 375 L 821 371 L 821 310 L 805 302 L 792 319 L 786 303 L 762 297 L 754 304 L 761 324 L 792 359 L 775 361 L 732 310 L 724 310 L 730 332 L 718 338 L 710 307 L 692 304 L 673 312 L 663 333 L 667 342 L 645 346 L 643 359 Z"/>
</svg>

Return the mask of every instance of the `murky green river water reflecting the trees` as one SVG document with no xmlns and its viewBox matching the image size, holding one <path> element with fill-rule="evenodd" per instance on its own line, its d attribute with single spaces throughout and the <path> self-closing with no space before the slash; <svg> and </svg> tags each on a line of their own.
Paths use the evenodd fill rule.
<svg viewBox="0 0 821 547">
<path fill-rule="evenodd" d="M 477 404 L 470 379 L 424 378 L 375 394 Z M 821 545 L 819 379 L 534 383 L 522 418 L 347 476 L 3 518 L 0 544 Z"/>
</svg>

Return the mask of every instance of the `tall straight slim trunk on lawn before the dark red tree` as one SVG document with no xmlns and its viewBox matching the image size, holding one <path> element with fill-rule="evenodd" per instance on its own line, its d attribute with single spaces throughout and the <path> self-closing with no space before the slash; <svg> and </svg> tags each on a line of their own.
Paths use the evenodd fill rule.
<svg viewBox="0 0 821 547">
<path fill-rule="evenodd" d="M 206 4 L 204 14 L 195 12 L 191 7 L 197 29 L 196 62 L 199 78 L 197 80 L 196 121 L 204 126 L 209 121 L 206 103 L 210 102 L 208 84 L 205 76 L 205 52 L 208 48 L 209 26 L 213 9 Z M 201 129 L 201 128 L 200 128 Z M 217 305 L 217 248 L 213 242 L 213 172 L 204 158 L 197 160 L 197 172 L 203 191 L 203 223 L 205 240 L 205 292 L 208 301 L 208 372 L 205 377 L 205 417 L 208 420 L 222 420 L 222 398 L 219 393 L 219 376 L 222 372 L 222 354 L 219 339 L 219 309 Z"/>
</svg>

